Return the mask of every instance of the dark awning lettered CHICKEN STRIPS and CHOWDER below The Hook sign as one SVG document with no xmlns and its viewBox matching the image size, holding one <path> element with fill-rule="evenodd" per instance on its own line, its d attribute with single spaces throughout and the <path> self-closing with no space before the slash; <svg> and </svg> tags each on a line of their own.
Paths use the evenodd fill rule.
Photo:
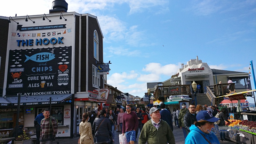
<svg viewBox="0 0 256 144">
<path fill-rule="evenodd" d="M 20 105 L 38 105 L 50 104 L 50 97 L 52 104 L 71 104 L 72 94 L 54 94 L 54 95 L 35 95 L 35 96 L 21 96 Z M 18 96 L 3 98 L 8 102 L 8 106 L 15 106 L 18 103 Z M 2 98 L 0 103 L 3 103 Z M 2 104 L 1 104 L 2 105 Z"/>
</svg>

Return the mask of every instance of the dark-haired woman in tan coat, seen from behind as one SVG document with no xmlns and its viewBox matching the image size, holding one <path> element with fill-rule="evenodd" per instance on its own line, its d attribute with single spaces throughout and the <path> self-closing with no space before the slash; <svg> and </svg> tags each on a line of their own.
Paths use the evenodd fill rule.
<svg viewBox="0 0 256 144">
<path fill-rule="evenodd" d="M 83 121 L 79 124 L 80 144 L 93 144 L 92 126 L 88 122 L 88 114 L 83 114 Z"/>
</svg>

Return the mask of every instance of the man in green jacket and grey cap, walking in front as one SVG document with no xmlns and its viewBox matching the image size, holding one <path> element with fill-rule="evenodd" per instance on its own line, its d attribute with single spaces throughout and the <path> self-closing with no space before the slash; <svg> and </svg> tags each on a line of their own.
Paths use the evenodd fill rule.
<svg viewBox="0 0 256 144">
<path fill-rule="evenodd" d="M 167 122 L 161 120 L 161 108 L 150 108 L 151 120 L 144 124 L 140 132 L 139 144 L 175 144 L 172 130 Z"/>
</svg>

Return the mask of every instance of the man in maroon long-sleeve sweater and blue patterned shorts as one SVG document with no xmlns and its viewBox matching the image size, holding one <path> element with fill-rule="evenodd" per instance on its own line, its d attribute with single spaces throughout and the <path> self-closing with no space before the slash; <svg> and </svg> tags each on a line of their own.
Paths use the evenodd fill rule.
<svg viewBox="0 0 256 144">
<path fill-rule="evenodd" d="M 134 144 L 136 141 L 135 133 L 139 125 L 138 116 L 131 111 L 131 105 L 126 105 L 126 113 L 124 113 L 123 120 L 123 135 L 125 133 L 126 140 L 129 144 Z"/>
</svg>

